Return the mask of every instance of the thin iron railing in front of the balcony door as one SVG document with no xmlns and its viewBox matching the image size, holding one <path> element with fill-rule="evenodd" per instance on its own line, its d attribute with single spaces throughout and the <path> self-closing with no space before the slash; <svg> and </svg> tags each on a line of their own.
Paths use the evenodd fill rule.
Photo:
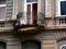
<svg viewBox="0 0 66 49">
<path fill-rule="evenodd" d="M 19 13 L 16 16 L 16 25 L 44 25 L 44 15 L 38 13 L 33 15 L 31 13 Z"/>
</svg>

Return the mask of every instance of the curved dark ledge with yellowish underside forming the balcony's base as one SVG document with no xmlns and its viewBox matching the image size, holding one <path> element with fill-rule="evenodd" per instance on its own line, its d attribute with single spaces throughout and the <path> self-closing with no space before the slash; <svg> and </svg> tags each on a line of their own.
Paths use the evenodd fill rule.
<svg viewBox="0 0 66 49">
<path fill-rule="evenodd" d="M 41 25 L 21 25 L 14 26 L 15 32 L 18 33 L 36 33 L 44 29 L 44 26 Z"/>
</svg>

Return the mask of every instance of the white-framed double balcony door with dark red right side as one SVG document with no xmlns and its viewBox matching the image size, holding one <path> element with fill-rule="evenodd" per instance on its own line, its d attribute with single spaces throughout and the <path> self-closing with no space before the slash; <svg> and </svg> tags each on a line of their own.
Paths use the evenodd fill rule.
<svg viewBox="0 0 66 49">
<path fill-rule="evenodd" d="M 26 3 L 28 23 L 36 24 L 37 22 L 37 3 L 29 2 Z"/>
</svg>

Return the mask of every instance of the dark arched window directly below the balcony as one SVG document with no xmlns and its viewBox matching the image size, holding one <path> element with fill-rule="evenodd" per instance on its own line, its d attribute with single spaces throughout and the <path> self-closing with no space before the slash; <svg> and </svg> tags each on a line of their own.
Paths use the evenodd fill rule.
<svg viewBox="0 0 66 49">
<path fill-rule="evenodd" d="M 29 40 L 22 42 L 22 49 L 41 49 L 41 42 Z"/>
</svg>

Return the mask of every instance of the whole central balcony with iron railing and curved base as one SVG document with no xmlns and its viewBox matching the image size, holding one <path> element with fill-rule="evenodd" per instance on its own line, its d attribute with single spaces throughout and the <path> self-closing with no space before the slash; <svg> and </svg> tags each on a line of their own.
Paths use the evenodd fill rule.
<svg viewBox="0 0 66 49">
<path fill-rule="evenodd" d="M 20 16 L 20 17 L 19 17 Z M 20 33 L 37 33 L 44 29 L 44 19 L 31 16 L 31 14 L 19 14 L 14 24 L 15 32 Z"/>
</svg>

